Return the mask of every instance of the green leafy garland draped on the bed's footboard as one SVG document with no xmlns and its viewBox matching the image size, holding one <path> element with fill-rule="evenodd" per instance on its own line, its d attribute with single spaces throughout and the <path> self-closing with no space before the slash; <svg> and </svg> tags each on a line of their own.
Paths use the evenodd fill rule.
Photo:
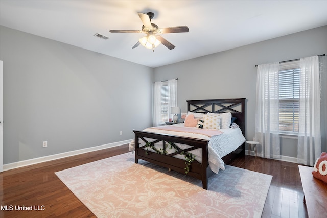
<svg viewBox="0 0 327 218">
<path fill-rule="evenodd" d="M 175 149 L 175 152 L 180 152 L 180 155 L 184 155 L 184 158 L 185 158 L 185 164 L 186 164 L 186 167 L 184 168 L 185 169 L 185 174 L 188 174 L 190 172 L 190 167 L 191 167 L 191 164 L 194 162 L 195 160 L 195 155 L 193 155 L 192 153 L 190 152 L 184 152 L 183 150 L 181 150 L 178 146 L 176 146 L 176 144 L 172 143 L 172 142 L 168 142 L 168 144 L 170 145 L 169 149 L 172 150 L 173 148 Z M 154 147 L 153 144 L 151 144 L 151 142 L 147 142 L 145 144 L 145 147 L 147 148 L 146 151 L 145 151 L 145 154 L 148 155 L 148 147 L 150 147 L 151 149 L 153 149 L 157 154 L 160 154 L 160 155 L 164 155 L 165 153 L 168 153 L 165 150 L 162 150 L 161 148 L 158 150 L 157 148 Z M 167 145 L 166 145 L 167 147 Z"/>
</svg>

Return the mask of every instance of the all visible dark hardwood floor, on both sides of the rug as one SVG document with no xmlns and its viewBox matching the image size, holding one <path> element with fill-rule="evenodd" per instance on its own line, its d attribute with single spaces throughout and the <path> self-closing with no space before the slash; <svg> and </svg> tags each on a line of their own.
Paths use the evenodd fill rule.
<svg viewBox="0 0 327 218">
<path fill-rule="evenodd" d="M 54 173 L 126 152 L 127 145 L 0 173 L 0 217 L 95 217 Z M 273 176 L 262 217 L 307 217 L 297 164 L 245 155 L 229 165 Z"/>
</svg>

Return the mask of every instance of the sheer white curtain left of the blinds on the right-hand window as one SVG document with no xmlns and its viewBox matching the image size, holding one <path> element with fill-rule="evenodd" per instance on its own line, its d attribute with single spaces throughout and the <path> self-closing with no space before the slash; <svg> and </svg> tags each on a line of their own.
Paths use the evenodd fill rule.
<svg viewBox="0 0 327 218">
<path fill-rule="evenodd" d="M 258 66 L 256 79 L 255 140 L 262 145 L 260 156 L 280 158 L 279 63 Z"/>
</svg>

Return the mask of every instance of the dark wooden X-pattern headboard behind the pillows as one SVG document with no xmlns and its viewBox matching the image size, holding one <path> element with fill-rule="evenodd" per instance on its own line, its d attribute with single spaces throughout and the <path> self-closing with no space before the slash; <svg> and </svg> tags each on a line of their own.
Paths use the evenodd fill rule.
<svg viewBox="0 0 327 218">
<path fill-rule="evenodd" d="M 188 111 L 197 113 L 225 113 L 230 112 L 236 117 L 235 123 L 240 126 L 245 136 L 245 98 L 240 99 L 208 99 L 188 100 Z"/>
</svg>

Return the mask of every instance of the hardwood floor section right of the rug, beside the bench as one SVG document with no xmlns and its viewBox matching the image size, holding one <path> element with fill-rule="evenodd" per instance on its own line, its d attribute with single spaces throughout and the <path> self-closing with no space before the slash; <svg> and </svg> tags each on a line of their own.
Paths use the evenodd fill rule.
<svg viewBox="0 0 327 218">
<path fill-rule="evenodd" d="M 273 176 L 262 217 L 308 217 L 298 164 L 245 155 L 228 165 Z"/>
</svg>

